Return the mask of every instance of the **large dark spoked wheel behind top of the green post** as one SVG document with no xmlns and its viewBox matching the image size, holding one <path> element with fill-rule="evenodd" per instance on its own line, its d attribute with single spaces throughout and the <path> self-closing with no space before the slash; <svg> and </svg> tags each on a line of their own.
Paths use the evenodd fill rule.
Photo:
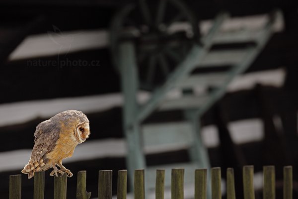
<svg viewBox="0 0 298 199">
<path fill-rule="evenodd" d="M 110 48 L 118 70 L 119 43 L 124 40 L 134 42 L 140 88 L 150 91 L 199 43 L 199 24 L 180 0 L 139 0 L 123 7 L 112 20 Z"/>
</svg>

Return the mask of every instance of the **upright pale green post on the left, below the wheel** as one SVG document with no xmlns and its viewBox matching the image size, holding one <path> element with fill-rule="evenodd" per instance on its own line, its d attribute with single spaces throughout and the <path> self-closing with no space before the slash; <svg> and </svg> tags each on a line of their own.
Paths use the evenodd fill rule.
<svg viewBox="0 0 298 199">
<path fill-rule="evenodd" d="M 120 44 L 121 87 L 124 95 L 123 129 L 127 140 L 127 165 L 130 182 L 134 182 L 136 169 L 145 168 L 145 157 L 141 146 L 140 123 L 134 122 L 138 112 L 138 71 L 136 66 L 135 47 L 132 42 Z M 133 186 L 133 184 L 131 184 Z"/>
</svg>

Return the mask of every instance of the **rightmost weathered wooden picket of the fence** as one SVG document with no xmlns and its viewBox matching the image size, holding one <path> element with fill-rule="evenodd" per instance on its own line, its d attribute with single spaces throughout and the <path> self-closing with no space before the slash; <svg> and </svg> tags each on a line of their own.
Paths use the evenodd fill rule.
<svg viewBox="0 0 298 199">
<path fill-rule="evenodd" d="M 293 169 L 284 167 L 284 199 L 293 199 Z"/>
</svg>

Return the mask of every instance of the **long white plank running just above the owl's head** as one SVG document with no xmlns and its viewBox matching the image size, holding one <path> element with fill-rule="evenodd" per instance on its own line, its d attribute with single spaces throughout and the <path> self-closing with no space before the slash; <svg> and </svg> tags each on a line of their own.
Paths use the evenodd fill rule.
<svg viewBox="0 0 298 199">
<path fill-rule="evenodd" d="M 137 98 L 140 103 L 144 103 L 148 100 L 149 93 L 139 92 Z M 37 117 L 50 118 L 70 109 L 81 110 L 88 116 L 88 113 L 105 111 L 122 105 L 121 93 L 2 103 L 0 104 L 0 126 L 22 123 Z"/>
</svg>

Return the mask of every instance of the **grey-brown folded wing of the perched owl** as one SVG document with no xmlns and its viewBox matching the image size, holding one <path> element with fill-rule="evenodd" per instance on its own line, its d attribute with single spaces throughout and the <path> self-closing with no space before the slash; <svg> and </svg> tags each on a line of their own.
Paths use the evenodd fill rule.
<svg viewBox="0 0 298 199">
<path fill-rule="evenodd" d="M 39 161 L 45 154 L 51 152 L 59 139 L 59 122 L 48 119 L 36 126 L 34 133 L 34 147 L 31 153 L 33 162 Z"/>
</svg>

